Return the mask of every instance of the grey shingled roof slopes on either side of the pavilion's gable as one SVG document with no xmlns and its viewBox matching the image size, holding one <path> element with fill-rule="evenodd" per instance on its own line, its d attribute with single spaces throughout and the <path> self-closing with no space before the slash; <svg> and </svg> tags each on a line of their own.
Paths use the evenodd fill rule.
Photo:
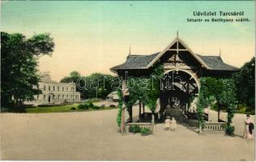
<svg viewBox="0 0 256 162">
<path fill-rule="evenodd" d="M 153 53 L 151 55 L 129 55 L 126 62 L 111 68 L 113 71 L 117 70 L 138 70 L 147 69 L 147 65 L 154 59 L 159 53 Z M 203 56 L 197 54 L 202 61 L 211 68 L 211 70 L 238 70 L 235 66 L 230 66 L 222 61 L 219 56 Z"/>
</svg>

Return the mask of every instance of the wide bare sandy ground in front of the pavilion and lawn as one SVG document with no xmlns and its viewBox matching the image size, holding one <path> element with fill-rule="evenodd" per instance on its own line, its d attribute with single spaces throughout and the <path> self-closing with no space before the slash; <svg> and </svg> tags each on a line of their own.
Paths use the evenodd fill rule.
<svg viewBox="0 0 256 162">
<path fill-rule="evenodd" d="M 254 141 L 156 125 L 154 135 L 117 133 L 117 109 L 1 114 L 2 160 L 254 160 Z"/>
</svg>

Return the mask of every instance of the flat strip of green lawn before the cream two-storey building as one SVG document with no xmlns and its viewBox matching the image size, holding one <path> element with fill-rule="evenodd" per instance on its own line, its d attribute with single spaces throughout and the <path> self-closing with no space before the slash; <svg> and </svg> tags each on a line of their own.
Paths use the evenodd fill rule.
<svg viewBox="0 0 256 162">
<path fill-rule="evenodd" d="M 63 113 L 63 112 L 81 112 L 81 111 L 96 111 L 96 110 L 106 110 L 106 109 L 117 109 L 115 107 L 104 107 L 100 109 L 78 109 L 79 104 L 70 104 L 62 106 L 49 106 L 49 107 L 36 107 L 36 108 L 27 108 L 26 113 Z M 71 108 L 75 110 L 71 110 Z"/>
</svg>

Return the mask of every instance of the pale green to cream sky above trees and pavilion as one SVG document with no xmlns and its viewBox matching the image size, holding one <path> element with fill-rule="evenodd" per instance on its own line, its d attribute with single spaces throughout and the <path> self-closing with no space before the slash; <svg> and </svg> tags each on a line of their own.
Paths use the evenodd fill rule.
<svg viewBox="0 0 256 162">
<path fill-rule="evenodd" d="M 1 2 L 1 31 L 25 36 L 49 32 L 53 55 L 39 59 L 39 70 L 59 81 L 71 71 L 113 74 L 109 68 L 131 54 L 162 51 L 177 35 L 194 53 L 219 55 L 240 67 L 255 54 L 253 1 Z M 188 23 L 194 11 L 244 11 L 240 23 Z M 203 16 L 200 18 L 207 18 Z"/>
</svg>

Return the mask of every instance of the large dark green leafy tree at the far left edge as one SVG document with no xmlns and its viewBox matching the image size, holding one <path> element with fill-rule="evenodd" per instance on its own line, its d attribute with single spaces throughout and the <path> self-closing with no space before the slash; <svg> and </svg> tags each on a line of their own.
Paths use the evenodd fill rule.
<svg viewBox="0 0 256 162">
<path fill-rule="evenodd" d="M 23 111 L 24 100 L 34 100 L 40 93 L 36 66 L 41 55 L 51 55 L 53 38 L 48 33 L 26 39 L 20 33 L 1 32 L 1 102 L 2 107 Z"/>
</svg>

